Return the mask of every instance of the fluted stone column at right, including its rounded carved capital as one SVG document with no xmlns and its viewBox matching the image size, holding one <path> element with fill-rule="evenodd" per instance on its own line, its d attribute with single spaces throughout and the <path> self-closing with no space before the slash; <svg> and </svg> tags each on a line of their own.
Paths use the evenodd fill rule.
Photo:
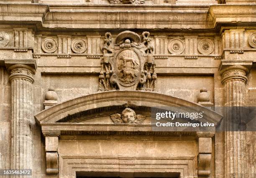
<svg viewBox="0 0 256 178">
<path fill-rule="evenodd" d="M 246 132 L 243 115 L 248 68 L 231 65 L 220 70 L 224 86 L 225 178 L 251 178 L 246 168 Z"/>
</svg>

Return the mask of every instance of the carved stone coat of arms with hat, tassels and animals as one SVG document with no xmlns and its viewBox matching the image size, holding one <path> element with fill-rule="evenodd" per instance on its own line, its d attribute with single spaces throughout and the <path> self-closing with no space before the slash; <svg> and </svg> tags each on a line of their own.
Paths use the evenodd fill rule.
<svg viewBox="0 0 256 178">
<path fill-rule="evenodd" d="M 149 32 L 143 32 L 141 42 L 137 33 L 124 31 L 113 44 L 111 33 L 105 34 L 99 91 L 155 89 L 156 65 L 149 36 Z"/>
</svg>

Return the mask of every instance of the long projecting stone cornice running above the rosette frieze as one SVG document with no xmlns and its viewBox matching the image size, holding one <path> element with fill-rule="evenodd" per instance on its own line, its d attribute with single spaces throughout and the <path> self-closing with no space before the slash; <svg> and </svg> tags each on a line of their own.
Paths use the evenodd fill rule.
<svg viewBox="0 0 256 178">
<path fill-rule="evenodd" d="M 0 4 L 2 23 L 49 29 L 220 30 L 255 25 L 256 5 Z"/>
</svg>

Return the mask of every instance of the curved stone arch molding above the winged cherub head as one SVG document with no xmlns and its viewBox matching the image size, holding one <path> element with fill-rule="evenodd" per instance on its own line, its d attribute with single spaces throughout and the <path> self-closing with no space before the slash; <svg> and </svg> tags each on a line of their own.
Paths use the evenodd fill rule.
<svg viewBox="0 0 256 178">
<path fill-rule="evenodd" d="M 119 105 L 135 105 L 145 107 L 172 106 L 180 109 L 185 108 L 190 112 L 203 111 L 205 116 L 203 118 L 204 121 L 211 121 L 215 124 L 217 124 L 221 119 L 221 116 L 214 111 L 186 100 L 153 92 L 123 90 L 101 92 L 75 98 L 73 100 L 55 105 L 47 110 L 43 110 L 41 113 L 35 115 L 35 118 L 40 125 L 43 125 L 44 123 L 57 123 L 59 120 L 67 117 L 68 115 L 80 113 L 85 110 Z"/>
</svg>

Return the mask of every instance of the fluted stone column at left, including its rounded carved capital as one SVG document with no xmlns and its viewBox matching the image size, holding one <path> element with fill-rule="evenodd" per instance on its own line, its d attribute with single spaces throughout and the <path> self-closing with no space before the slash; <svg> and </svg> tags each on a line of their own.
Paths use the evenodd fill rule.
<svg viewBox="0 0 256 178">
<path fill-rule="evenodd" d="M 33 75 L 31 66 L 8 67 L 11 75 L 11 169 L 32 169 Z M 17 176 L 18 177 L 18 176 Z"/>
</svg>

